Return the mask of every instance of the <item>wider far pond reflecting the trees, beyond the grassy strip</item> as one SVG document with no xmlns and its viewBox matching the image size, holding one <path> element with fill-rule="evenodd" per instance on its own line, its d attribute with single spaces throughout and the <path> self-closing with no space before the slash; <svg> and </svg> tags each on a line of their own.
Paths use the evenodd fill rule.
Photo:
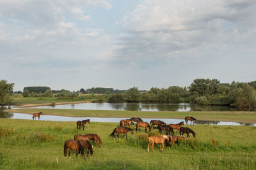
<svg viewBox="0 0 256 170">
<path fill-rule="evenodd" d="M 12 107 L 15 109 L 14 107 Z M 77 110 L 129 110 L 129 111 L 236 111 L 229 106 L 198 106 L 197 104 L 159 104 L 159 103 L 79 103 L 56 106 L 39 106 L 47 109 Z"/>
</svg>

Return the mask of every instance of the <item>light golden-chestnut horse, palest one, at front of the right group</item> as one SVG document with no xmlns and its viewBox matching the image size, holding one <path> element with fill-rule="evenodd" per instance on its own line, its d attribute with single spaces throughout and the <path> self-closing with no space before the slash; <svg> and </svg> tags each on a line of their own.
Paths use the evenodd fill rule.
<svg viewBox="0 0 256 170">
<path fill-rule="evenodd" d="M 163 135 L 163 136 L 150 136 L 148 138 L 148 148 L 151 146 L 152 151 L 154 152 L 154 143 L 160 143 L 160 151 L 163 152 L 164 150 L 164 141 L 167 140 L 168 142 L 171 141 L 171 137 L 169 135 Z M 162 148 L 163 146 L 163 148 Z M 148 150 L 149 152 L 149 150 Z"/>
</svg>

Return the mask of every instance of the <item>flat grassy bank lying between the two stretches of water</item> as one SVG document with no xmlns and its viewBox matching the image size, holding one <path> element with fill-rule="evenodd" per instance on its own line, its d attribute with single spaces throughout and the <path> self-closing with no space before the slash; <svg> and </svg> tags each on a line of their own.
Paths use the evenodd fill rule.
<svg viewBox="0 0 256 170">
<path fill-rule="evenodd" d="M 142 118 L 180 118 L 187 116 L 198 120 L 256 123 L 255 111 L 116 111 L 116 110 L 63 110 L 25 108 L 7 110 L 16 113 L 38 113 L 66 117 L 142 117 Z"/>
</svg>

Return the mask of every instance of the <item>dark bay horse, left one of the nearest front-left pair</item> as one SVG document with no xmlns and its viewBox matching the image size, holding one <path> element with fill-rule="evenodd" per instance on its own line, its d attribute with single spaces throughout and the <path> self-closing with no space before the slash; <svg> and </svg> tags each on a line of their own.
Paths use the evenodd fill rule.
<svg viewBox="0 0 256 170">
<path fill-rule="evenodd" d="M 69 149 L 69 150 L 68 150 Z M 68 157 L 70 157 L 71 150 L 76 150 L 76 156 L 79 155 L 79 153 L 82 154 L 82 157 L 84 157 L 84 148 L 83 145 L 81 145 L 80 141 L 75 141 L 72 139 L 69 139 L 65 141 L 64 143 L 64 156 L 67 157 L 67 150 L 68 150 Z"/>
</svg>

